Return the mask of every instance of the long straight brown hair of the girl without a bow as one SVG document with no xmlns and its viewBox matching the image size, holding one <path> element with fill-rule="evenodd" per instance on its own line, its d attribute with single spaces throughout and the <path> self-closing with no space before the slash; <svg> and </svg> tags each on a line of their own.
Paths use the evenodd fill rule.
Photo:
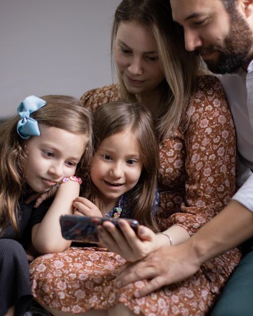
<svg viewBox="0 0 253 316">
<path fill-rule="evenodd" d="M 132 216 L 142 224 L 155 229 L 151 214 L 154 205 L 157 175 L 159 172 L 159 149 L 150 112 L 140 104 L 115 101 L 98 107 L 94 112 L 94 154 L 104 139 L 126 129 L 133 132 L 138 143 L 143 168 L 137 185 L 130 191 Z M 122 144 L 122 146 L 124 146 Z M 83 196 L 91 200 L 104 215 L 100 192 L 90 180 Z"/>
</svg>

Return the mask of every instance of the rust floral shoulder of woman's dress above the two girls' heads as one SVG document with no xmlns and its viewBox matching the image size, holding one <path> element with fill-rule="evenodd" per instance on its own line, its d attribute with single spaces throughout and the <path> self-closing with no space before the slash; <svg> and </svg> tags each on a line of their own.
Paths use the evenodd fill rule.
<svg viewBox="0 0 253 316">
<path fill-rule="evenodd" d="M 98 106 L 120 99 L 117 84 L 109 84 L 102 88 L 92 89 L 83 94 L 80 98 L 83 106 L 94 111 Z"/>
</svg>

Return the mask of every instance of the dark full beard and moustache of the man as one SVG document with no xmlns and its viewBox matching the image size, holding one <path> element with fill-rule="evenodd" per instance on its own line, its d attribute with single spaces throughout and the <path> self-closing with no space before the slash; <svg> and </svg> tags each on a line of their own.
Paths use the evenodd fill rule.
<svg viewBox="0 0 253 316">
<path fill-rule="evenodd" d="M 216 61 L 204 61 L 207 68 L 214 73 L 232 73 L 246 64 L 252 46 L 252 31 L 236 9 L 233 9 L 230 13 L 230 32 L 225 38 L 225 46 L 199 48 L 196 49 L 196 54 L 205 55 L 218 51 L 220 54 Z"/>
</svg>

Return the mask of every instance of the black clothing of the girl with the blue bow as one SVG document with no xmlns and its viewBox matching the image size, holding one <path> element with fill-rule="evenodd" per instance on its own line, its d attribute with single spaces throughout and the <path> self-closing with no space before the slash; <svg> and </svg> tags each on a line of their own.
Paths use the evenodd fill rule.
<svg viewBox="0 0 253 316">
<path fill-rule="evenodd" d="M 15 316 L 21 316 L 31 303 L 29 263 L 25 247 L 31 240 L 31 228 L 41 222 L 52 200 L 47 200 L 38 208 L 34 201 L 24 204 L 21 200 L 18 211 L 19 236 L 11 223 L 0 238 L 0 316 L 4 316 L 11 306 L 15 306 Z"/>
</svg>

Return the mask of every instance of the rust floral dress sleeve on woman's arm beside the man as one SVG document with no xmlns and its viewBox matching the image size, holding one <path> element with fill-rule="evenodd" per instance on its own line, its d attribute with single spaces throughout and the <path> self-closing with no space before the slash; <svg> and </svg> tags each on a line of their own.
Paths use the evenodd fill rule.
<svg viewBox="0 0 253 316">
<path fill-rule="evenodd" d="M 206 76 L 199 81 L 187 115 L 186 200 L 181 213 L 171 215 L 170 221 L 192 235 L 218 214 L 235 192 L 235 129 L 216 77 Z"/>
</svg>

